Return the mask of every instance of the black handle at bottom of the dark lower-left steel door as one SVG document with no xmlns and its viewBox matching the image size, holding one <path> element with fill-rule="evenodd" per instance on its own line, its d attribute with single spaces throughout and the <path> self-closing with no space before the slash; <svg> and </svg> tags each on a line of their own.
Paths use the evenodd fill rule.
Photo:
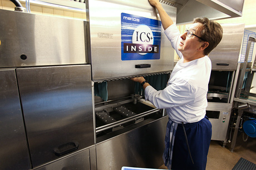
<svg viewBox="0 0 256 170">
<path fill-rule="evenodd" d="M 76 151 L 78 146 L 79 146 L 78 142 L 68 142 L 61 146 L 58 146 L 57 148 L 54 148 L 54 153 L 56 154 L 56 156 L 62 156 L 63 154 Z"/>
</svg>

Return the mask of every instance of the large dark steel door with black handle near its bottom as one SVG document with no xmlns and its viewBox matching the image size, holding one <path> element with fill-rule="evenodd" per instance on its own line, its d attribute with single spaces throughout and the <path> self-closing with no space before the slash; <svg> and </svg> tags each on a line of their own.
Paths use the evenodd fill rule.
<svg viewBox="0 0 256 170">
<path fill-rule="evenodd" d="M 94 144 L 90 65 L 17 69 L 32 166 Z"/>
</svg>

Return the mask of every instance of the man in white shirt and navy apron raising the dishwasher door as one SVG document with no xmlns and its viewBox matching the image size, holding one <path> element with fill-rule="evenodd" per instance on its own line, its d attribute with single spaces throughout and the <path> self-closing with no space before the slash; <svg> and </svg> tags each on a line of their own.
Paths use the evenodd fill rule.
<svg viewBox="0 0 256 170">
<path fill-rule="evenodd" d="M 164 90 L 155 90 L 143 77 L 145 99 L 169 115 L 166 127 L 164 162 L 169 169 L 205 169 L 211 139 L 211 123 L 206 119 L 207 91 L 211 61 L 207 56 L 222 38 L 220 24 L 196 18 L 180 34 L 159 0 L 149 0 L 159 12 L 165 34 L 180 56 Z"/>
</svg>

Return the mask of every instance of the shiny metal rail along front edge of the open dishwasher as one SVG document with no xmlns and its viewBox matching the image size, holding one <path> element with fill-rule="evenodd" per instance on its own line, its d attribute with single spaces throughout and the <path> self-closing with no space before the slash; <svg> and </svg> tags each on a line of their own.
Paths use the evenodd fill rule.
<svg viewBox="0 0 256 170">
<path fill-rule="evenodd" d="M 105 131 L 105 130 L 107 130 L 109 128 L 113 128 L 113 127 L 119 126 L 122 123 L 127 123 L 127 122 L 130 122 L 130 121 L 133 121 L 135 119 L 138 119 L 139 117 L 141 118 L 141 117 L 144 117 L 144 116 L 147 116 L 147 115 L 150 115 L 150 114 L 154 114 L 157 111 L 160 111 L 160 109 L 153 109 L 153 110 L 150 110 L 150 111 L 143 112 L 143 113 L 141 113 L 139 115 L 127 117 L 126 119 L 110 123 L 109 125 L 104 125 L 104 126 L 101 126 L 101 127 L 97 127 L 96 128 L 96 133 Z"/>
</svg>

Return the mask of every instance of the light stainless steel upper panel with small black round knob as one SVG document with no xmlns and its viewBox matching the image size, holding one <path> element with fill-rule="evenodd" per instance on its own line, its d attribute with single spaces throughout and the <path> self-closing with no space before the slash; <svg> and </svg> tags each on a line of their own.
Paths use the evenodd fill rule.
<svg viewBox="0 0 256 170">
<path fill-rule="evenodd" d="M 0 68 L 86 64 L 86 22 L 0 10 Z"/>
</svg>

